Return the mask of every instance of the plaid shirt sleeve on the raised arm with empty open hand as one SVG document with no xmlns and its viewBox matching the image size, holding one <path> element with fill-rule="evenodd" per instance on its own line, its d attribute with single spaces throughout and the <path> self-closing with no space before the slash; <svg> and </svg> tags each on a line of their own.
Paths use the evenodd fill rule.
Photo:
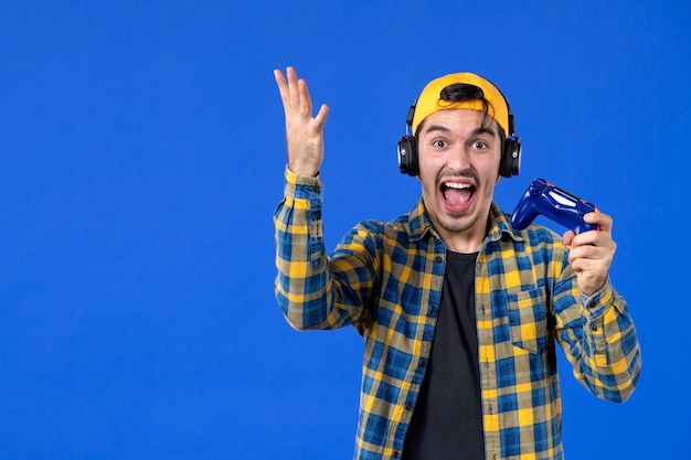
<svg viewBox="0 0 691 460">
<path fill-rule="evenodd" d="M 363 302 L 346 281 L 357 278 L 360 268 L 343 269 L 348 264 L 332 261 L 326 253 L 322 183 L 288 168 L 285 176 L 284 199 L 274 213 L 278 304 L 297 330 L 352 324 L 361 318 Z"/>
</svg>

